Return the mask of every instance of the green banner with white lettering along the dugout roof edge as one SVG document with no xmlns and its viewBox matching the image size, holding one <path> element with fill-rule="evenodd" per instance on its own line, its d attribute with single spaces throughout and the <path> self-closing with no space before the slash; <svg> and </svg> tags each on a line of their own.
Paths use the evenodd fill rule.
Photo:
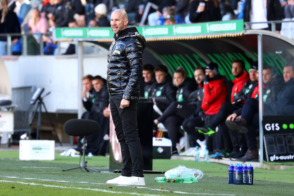
<svg viewBox="0 0 294 196">
<path fill-rule="evenodd" d="M 233 33 L 243 31 L 243 20 L 217 21 L 195 24 L 177 24 L 167 26 L 136 27 L 140 34 L 148 37 L 191 36 L 211 33 Z M 111 39 L 111 28 L 57 28 L 54 40 L 59 39 Z"/>
</svg>

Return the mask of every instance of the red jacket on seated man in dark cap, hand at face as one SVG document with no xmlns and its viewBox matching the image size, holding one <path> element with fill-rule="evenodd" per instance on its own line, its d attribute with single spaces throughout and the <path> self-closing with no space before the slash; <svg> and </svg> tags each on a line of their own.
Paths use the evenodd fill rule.
<svg viewBox="0 0 294 196">
<path fill-rule="evenodd" d="M 227 87 L 225 78 L 209 81 L 208 84 L 204 84 L 203 90 L 202 110 L 205 111 L 205 115 L 217 114 L 220 106 L 226 102 Z"/>
</svg>

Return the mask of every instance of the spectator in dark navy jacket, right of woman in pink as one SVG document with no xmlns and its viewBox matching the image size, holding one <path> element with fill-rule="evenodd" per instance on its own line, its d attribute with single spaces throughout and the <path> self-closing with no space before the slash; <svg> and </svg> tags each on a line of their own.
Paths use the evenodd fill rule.
<svg viewBox="0 0 294 196">
<path fill-rule="evenodd" d="M 55 27 L 67 27 L 69 21 L 69 8 L 65 0 L 56 0 L 56 9 L 53 14 L 48 14 L 49 23 Z M 51 21 L 50 21 L 51 20 Z"/>
</svg>

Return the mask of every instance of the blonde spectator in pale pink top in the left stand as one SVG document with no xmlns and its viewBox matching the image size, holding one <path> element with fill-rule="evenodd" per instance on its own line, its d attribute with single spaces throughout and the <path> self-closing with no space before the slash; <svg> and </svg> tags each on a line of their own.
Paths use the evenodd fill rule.
<svg viewBox="0 0 294 196">
<path fill-rule="evenodd" d="M 48 22 L 44 14 L 40 14 L 37 7 L 32 9 L 32 18 L 29 21 L 29 27 L 33 33 L 46 33 L 48 30 Z"/>
</svg>

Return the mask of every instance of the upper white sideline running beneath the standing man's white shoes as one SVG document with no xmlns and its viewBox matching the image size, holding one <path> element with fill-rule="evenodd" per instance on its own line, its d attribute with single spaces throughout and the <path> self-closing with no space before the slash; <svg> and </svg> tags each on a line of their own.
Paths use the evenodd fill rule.
<svg viewBox="0 0 294 196">
<path fill-rule="evenodd" d="M 5 178 L 19 178 L 19 177 L 15 177 L 15 176 L 2 176 L 2 175 L 0 175 L 0 177 L 5 177 Z M 71 181 L 64 181 L 64 180 L 49 180 L 49 179 L 36 179 L 36 178 L 20 178 L 20 179 L 40 180 L 40 181 L 54 181 L 54 182 L 71 182 Z M 0 182 L 1 182 L 1 180 L 0 180 Z M 90 183 L 90 182 L 71 182 L 71 183 Z M 26 184 L 26 183 L 24 183 L 24 184 Z M 29 183 L 29 184 L 32 184 L 32 183 Z M 148 187 L 143 187 L 143 186 L 117 185 L 117 184 L 106 184 L 106 183 L 91 183 L 91 184 L 92 185 L 128 186 L 128 187 L 133 187 L 133 188 L 145 188 L 145 189 L 149 189 L 151 191 L 167 191 L 167 192 L 170 191 L 170 190 L 166 190 L 166 189 L 148 188 Z M 68 188 L 68 187 L 65 187 L 65 188 Z M 104 190 L 104 189 L 102 189 L 102 190 Z M 195 194 L 195 195 L 198 195 L 198 194 L 199 195 L 228 195 L 228 196 L 234 196 L 234 195 L 236 195 L 236 194 L 213 194 L 213 193 L 188 193 L 188 192 L 183 192 L 183 191 L 173 191 L 173 192 L 174 193 L 180 193 L 180 194 Z"/>
</svg>

